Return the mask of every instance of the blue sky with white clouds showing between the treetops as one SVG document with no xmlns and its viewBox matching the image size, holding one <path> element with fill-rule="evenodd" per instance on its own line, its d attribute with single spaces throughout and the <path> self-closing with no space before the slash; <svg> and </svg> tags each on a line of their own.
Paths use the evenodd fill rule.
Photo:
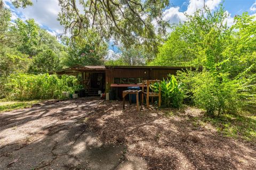
<svg viewBox="0 0 256 170">
<path fill-rule="evenodd" d="M 63 33 L 60 25 L 58 13 L 60 7 L 58 0 L 32 0 L 34 5 L 26 9 L 15 9 L 11 0 L 4 0 L 6 7 L 12 11 L 12 20 L 21 18 L 22 20 L 33 18 L 39 26 L 49 31 L 52 35 Z M 78 0 L 76 0 L 78 2 Z M 249 12 L 256 16 L 256 0 L 205 0 L 205 5 L 211 10 L 215 10 L 223 2 L 225 10 L 230 15 L 228 25 L 233 24 L 234 16 Z M 178 23 L 186 20 L 185 13 L 193 14 L 197 9 L 203 7 L 204 0 L 170 0 L 170 5 L 164 9 L 164 20 L 170 23 Z M 79 7 L 78 7 L 79 8 Z M 109 50 L 117 51 L 117 47 L 110 42 Z"/>
</svg>

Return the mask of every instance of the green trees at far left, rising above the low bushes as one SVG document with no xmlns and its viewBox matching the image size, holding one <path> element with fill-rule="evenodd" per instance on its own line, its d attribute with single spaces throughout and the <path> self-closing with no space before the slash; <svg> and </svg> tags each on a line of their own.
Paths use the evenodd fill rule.
<svg viewBox="0 0 256 170">
<path fill-rule="evenodd" d="M 11 12 L 0 10 L 0 76 L 14 72 L 47 72 L 61 69 L 66 56 L 65 46 L 33 19 L 11 22 Z M 30 61 L 32 60 L 32 61 Z M 1 85 L 2 86 L 2 85 Z"/>
</svg>

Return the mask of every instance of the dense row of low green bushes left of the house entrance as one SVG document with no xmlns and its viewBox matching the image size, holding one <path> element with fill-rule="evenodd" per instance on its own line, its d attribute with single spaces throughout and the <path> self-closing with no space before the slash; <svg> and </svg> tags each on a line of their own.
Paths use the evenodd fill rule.
<svg viewBox="0 0 256 170">
<path fill-rule="evenodd" d="M 28 75 L 16 74 L 6 79 L 4 92 L 7 99 L 32 100 L 32 99 L 58 99 L 62 91 L 73 93 L 77 85 L 74 76 L 41 74 Z"/>
</svg>

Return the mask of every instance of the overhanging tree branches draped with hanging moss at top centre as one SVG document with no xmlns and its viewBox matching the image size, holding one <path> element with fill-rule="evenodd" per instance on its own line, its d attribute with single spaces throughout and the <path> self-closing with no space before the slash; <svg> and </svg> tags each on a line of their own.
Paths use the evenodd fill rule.
<svg viewBox="0 0 256 170">
<path fill-rule="evenodd" d="M 96 29 L 101 37 L 132 44 L 146 44 L 157 53 L 157 45 L 166 33 L 168 23 L 162 18 L 169 0 L 59 0 L 59 21 L 71 36 Z M 31 5 L 30 0 L 15 0 L 15 7 Z M 79 10 L 80 9 L 80 10 Z"/>
</svg>

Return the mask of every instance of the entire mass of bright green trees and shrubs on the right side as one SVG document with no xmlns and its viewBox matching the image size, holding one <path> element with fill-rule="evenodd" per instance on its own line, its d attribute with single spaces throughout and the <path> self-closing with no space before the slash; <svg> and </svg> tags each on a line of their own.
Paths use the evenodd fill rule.
<svg viewBox="0 0 256 170">
<path fill-rule="evenodd" d="M 256 21 L 244 13 L 227 26 L 227 12 L 198 10 L 172 27 L 151 63 L 193 66 L 178 76 L 185 102 L 208 114 L 235 113 L 256 106 Z"/>
</svg>

